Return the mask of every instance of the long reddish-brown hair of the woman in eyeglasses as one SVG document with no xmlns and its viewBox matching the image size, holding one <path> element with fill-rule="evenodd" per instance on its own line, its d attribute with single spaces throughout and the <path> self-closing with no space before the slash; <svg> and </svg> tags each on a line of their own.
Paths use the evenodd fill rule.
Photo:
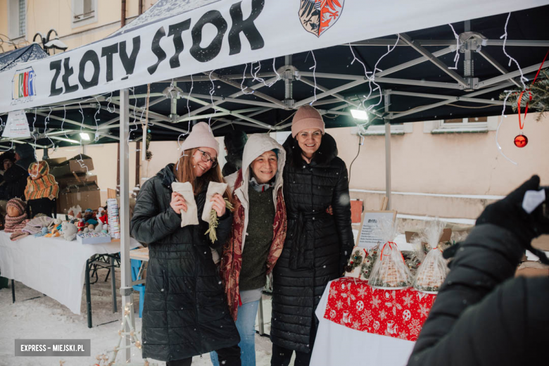
<svg viewBox="0 0 549 366">
<path fill-rule="evenodd" d="M 196 177 L 194 174 L 193 156 L 197 150 L 198 149 L 189 149 L 183 151 L 182 155 L 179 157 L 179 162 L 173 165 L 173 173 L 177 182 L 191 182 L 195 195 L 208 189 L 208 184 L 210 184 L 210 182 L 225 183 L 225 179 L 223 179 L 223 176 L 221 175 L 219 164 L 210 168 L 201 177 Z M 231 201 L 229 187 L 227 187 L 223 196 Z"/>
</svg>

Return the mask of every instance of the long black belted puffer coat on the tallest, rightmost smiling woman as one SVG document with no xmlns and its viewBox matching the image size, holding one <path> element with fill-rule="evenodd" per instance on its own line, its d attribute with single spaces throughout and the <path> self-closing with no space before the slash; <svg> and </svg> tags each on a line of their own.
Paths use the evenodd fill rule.
<svg viewBox="0 0 549 366">
<path fill-rule="evenodd" d="M 273 271 L 271 340 L 306 353 L 314 342 L 311 326 L 317 329 L 314 311 L 326 284 L 343 273 L 354 240 L 347 168 L 336 141 L 324 134 L 310 164 L 301 152 L 296 156 L 295 144 L 291 136 L 284 143 L 288 232 Z"/>
</svg>

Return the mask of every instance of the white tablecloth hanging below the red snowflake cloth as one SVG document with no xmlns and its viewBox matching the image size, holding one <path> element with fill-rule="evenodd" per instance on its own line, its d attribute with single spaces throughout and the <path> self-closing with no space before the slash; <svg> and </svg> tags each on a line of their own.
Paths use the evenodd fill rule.
<svg viewBox="0 0 549 366">
<path fill-rule="evenodd" d="M 320 323 L 310 365 L 406 365 L 415 342 L 360 332 L 324 318 L 331 283 L 326 286 L 316 310 Z"/>
</svg>

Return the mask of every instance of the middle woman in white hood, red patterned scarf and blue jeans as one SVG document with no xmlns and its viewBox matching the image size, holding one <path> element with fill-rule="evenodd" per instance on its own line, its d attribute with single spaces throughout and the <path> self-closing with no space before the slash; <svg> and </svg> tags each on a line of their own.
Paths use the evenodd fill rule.
<svg viewBox="0 0 549 366">
<path fill-rule="evenodd" d="M 286 239 L 282 171 L 286 151 L 268 134 L 244 147 L 242 168 L 226 177 L 235 202 L 232 233 L 223 247 L 220 273 L 227 304 L 240 334 L 242 366 L 255 366 L 255 317 Z M 214 366 L 220 366 L 215 352 Z"/>
</svg>

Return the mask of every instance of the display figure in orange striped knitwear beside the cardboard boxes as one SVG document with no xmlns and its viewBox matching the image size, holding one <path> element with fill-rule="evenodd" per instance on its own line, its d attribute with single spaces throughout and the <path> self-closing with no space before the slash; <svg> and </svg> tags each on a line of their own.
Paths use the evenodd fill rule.
<svg viewBox="0 0 549 366">
<path fill-rule="evenodd" d="M 51 216 L 53 202 L 59 194 L 55 177 L 49 174 L 49 165 L 44 160 L 29 165 L 29 177 L 25 188 L 25 199 L 30 206 L 30 216 L 38 213 Z"/>
</svg>

